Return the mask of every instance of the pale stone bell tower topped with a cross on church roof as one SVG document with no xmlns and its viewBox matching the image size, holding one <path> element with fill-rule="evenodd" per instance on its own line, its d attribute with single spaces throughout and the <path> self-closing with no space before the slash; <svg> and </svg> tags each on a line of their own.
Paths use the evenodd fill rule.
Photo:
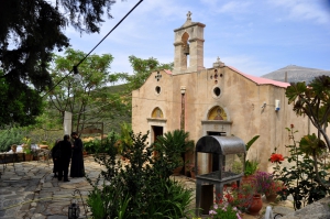
<svg viewBox="0 0 330 219">
<path fill-rule="evenodd" d="M 191 21 L 191 12 L 179 29 L 175 29 L 173 75 L 204 69 L 204 28 L 205 24 Z"/>
</svg>

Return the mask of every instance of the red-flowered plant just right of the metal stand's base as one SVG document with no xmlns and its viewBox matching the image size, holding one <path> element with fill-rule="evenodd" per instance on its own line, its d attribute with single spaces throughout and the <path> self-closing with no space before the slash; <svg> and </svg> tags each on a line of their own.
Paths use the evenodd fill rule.
<svg viewBox="0 0 330 219">
<path fill-rule="evenodd" d="M 240 187 L 232 184 L 231 187 L 223 187 L 223 196 L 218 195 L 215 201 L 218 205 L 228 204 L 232 208 L 235 207 L 242 212 L 246 212 L 253 200 L 255 188 L 253 184 L 243 183 Z"/>
</svg>

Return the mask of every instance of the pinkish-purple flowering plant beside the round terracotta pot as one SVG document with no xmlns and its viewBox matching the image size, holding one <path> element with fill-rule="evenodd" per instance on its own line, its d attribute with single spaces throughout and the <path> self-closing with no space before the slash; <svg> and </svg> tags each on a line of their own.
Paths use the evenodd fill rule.
<svg viewBox="0 0 330 219">
<path fill-rule="evenodd" d="M 256 191 L 260 194 L 277 194 L 277 191 L 285 188 L 282 182 L 274 179 L 274 175 L 266 172 L 257 172 L 255 174 L 255 182 Z"/>
</svg>

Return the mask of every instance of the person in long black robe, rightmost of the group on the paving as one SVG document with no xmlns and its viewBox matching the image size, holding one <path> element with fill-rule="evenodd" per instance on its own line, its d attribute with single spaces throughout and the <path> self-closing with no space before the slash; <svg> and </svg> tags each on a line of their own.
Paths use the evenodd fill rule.
<svg viewBox="0 0 330 219">
<path fill-rule="evenodd" d="M 82 177 L 82 176 L 85 176 L 82 141 L 81 141 L 81 139 L 78 138 L 77 132 L 73 132 L 72 138 L 75 140 L 75 142 L 74 142 L 74 146 L 73 146 L 70 177 Z"/>
</svg>

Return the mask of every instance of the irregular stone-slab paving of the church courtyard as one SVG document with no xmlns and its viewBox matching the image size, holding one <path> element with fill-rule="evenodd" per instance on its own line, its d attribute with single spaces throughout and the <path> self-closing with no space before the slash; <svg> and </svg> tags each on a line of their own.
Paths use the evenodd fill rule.
<svg viewBox="0 0 330 219">
<path fill-rule="evenodd" d="M 21 162 L 2 169 L 0 164 L 0 218 L 3 219 L 67 219 L 68 206 L 78 200 L 80 217 L 86 218 L 81 199 L 74 191 L 79 189 L 84 202 L 91 186 L 85 177 L 69 178 L 70 182 L 58 182 L 53 178 L 53 164 L 46 162 Z M 92 156 L 85 157 L 85 168 L 94 180 L 100 173 L 101 166 L 94 162 Z M 195 180 L 186 176 L 175 176 L 188 188 L 195 189 Z M 270 205 L 264 200 L 264 208 Z M 195 206 L 195 204 L 191 204 Z M 276 210 L 277 209 L 277 210 Z M 290 201 L 277 202 L 274 210 L 284 215 L 293 211 Z M 87 217 L 90 213 L 87 213 Z M 88 217 L 90 218 L 90 217 Z M 262 217 L 244 216 L 244 219 Z"/>
</svg>

